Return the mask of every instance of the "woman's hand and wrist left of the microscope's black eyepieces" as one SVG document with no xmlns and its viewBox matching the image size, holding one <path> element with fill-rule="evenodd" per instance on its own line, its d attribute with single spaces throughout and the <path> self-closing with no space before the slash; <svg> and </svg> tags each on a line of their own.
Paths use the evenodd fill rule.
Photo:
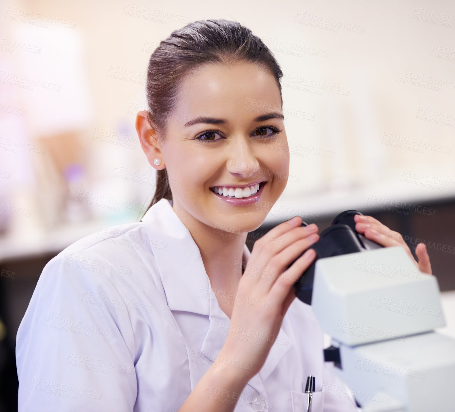
<svg viewBox="0 0 455 412">
<path fill-rule="evenodd" d="M 301 227 L 301 223 L 302 219 L 296 216 L 254 243 L 238 283 L 226 341 L 214 362 L 219 367 L 226 361 L 240 365 L 238 373 L 249 380 L 263 366 L 296 297 L 292 286 L 316 257 L 316 252 L 308 247 L 319 240 L 318 227 Z"/>
</svg>

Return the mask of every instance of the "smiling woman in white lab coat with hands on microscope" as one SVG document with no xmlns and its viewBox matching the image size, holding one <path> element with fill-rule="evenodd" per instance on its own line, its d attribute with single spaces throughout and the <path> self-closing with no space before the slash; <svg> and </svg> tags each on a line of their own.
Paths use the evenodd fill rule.
<svg viewBox="0 0 455 412">
<path fill-rule="evenodd" d="M 286 186 L 282 75 L 237 22 L 160 43 L 136 118 L 152 205 L 45 266 L 17 334 L 20 411 L 297 411 L 308 375 L 313 412 L 356 410 L 292 290 L 318 228 L 296 216 L 245 246 Z M 356 228 L 410 253 L 370 216 Z M 430 272 L 425 247 L 417 256 Z"/>
</svg>

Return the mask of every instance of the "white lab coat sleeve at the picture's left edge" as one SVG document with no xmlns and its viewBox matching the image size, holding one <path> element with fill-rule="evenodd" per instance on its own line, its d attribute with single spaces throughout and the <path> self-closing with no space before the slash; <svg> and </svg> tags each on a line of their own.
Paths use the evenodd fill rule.
<svg viewBox="0 0 455 412">
<path fill-rule="evenodd" d="M 119 295 L 109 271 L 61 254 L 47 263 L 17 332 L 19 412 L 133 411 L 133 331 L 127 308 L 109 303 Z"/>
</svg>

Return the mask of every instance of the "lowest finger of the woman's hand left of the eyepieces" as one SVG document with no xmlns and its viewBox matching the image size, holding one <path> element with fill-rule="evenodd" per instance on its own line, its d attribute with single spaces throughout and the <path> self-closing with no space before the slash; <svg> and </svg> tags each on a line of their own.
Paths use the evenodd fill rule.
<svg viewBox="0 0 455 412">
<path fill-rule="evenodd" d="M 289 289 L 302 276 L 302 273 L 308 269 L 308 266 L 311 265 L 315 257 L 316 251 L 314 249 L 308 249 L 287 271 L 281 273 L 269 291 L 269 299 L 283 304 L 288 296 Z"/>
</svg>

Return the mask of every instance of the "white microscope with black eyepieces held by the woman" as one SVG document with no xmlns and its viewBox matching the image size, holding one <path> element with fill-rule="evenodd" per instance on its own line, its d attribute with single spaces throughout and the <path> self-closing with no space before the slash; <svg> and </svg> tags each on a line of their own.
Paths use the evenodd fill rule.
<svg viewBox="0 0 455 412">
<path fill-rule="evenodd" d="M 322 231 L 293 285 L 331 337 L 324 359 L 363 412 L 453 412 L 455 340 L 434 331 L 445 326 L 438 281 L 402 247 L 358 233 L 356 214 Z"/>
</svg>

